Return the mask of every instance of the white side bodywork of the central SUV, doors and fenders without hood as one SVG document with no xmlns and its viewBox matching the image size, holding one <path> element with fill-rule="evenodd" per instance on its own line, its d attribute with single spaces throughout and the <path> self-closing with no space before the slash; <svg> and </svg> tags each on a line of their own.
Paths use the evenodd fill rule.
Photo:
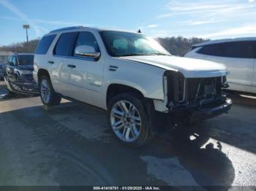
<svg viewBox="0 0 256 191">
<path fill-rule="evenodd" d="M 86 61 L 83 58 L 53 55 L 53 49 L 59 36 L 72 31 L 89 31 L 94 34 L 101 51 L 99 61 Z M 146 98 L 164 99 L 162 77 L 165 69 L 108 56 L 99 32 L 95 29 L 83 28 L 61 31 L 56 34 L 57 36 L 50 45 L 48 53 L 46 55 L 35 55 L 34 79 L 36 82 L 38 82 L 38 70 L 45 69 L 50 74 L 56 93 L 61 93 L 102 109 L 107 109 L 106 94 L 108 86 L 111 84 L 134 87 Z M 50 64 L 48 61 L 54 63 Z M 67 65 L 72 63 L 75 63 L 76 68 L 67 68 Z M 117 66 L 118 69 L 109 71 L 110 66 Z"/>
</svg>

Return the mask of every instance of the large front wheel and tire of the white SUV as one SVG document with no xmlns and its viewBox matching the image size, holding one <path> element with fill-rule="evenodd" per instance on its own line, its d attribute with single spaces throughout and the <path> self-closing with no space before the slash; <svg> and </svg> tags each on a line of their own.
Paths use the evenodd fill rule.
<svg viewBox="0 0 256 191">
<path fill-rule="evenodd" d="M 143 101 L 132 93 L 121 93 L 110 100 L 108 125 L 113 136 L 126 146 L 140 147 L 146 144 L 148 115 Z"/>
</svg>

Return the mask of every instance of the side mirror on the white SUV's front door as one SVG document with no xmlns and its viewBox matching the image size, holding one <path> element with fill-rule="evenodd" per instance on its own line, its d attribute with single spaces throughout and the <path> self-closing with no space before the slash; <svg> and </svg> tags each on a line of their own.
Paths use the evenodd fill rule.
<svg viewBox="0 0 256 191">
<path fill-rule="evenodd" d="M 95 52 L 94 47 L 87 45 L 80 45 L 75 48 L 75 55 L 94 58 L 94 60 L 98 60 L 100 57 L 100 52 Z"/>
</svg>

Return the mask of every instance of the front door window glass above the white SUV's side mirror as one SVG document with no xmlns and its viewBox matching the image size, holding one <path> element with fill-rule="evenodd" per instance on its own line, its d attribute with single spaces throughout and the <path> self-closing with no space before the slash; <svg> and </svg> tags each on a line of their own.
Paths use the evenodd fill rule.
<svg viewBox="0 0 256 191">
<path fill-rule="evenodd" d="M 94 37 L 94 34 L 90 32 L 80 32 L 78 35 L 77 42 L 75 43 L 75 48 L 80 45 L 86 45 L 94 48 L 94 52 L 100 52 L 99 45 L 97 40 Z"/>
</svg>

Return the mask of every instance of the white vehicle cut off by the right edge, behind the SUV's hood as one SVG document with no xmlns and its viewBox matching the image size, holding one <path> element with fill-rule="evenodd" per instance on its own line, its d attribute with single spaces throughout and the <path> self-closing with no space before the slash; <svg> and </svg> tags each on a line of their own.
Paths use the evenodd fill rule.
<svg viewBox="0 0 256 191">
<path fill-rule="evenodd" d="M 229 90 L 256 93 L 256 37 L 195 44 L 185 57 L 224 63 L 230 71 Z"/>
</svg>

